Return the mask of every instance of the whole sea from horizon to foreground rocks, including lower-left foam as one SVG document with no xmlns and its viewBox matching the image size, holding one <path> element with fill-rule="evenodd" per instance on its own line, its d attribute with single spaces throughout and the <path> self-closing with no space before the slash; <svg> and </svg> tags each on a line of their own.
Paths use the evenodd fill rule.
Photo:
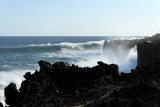
<svg viewBox="0 0 160 107">
<path fill-rule="evenodd" d="M 104 40 L 133 39 L 142 37 L 119 36 L 8 36 L 0 37 L 0 101 L 4 101 L 3 89 L 10 82 L 18 88 L 25 72 L 39 70 L 38 61 L 67 62 L 79 66 L 95 66 L 97 61 L 109 61 L 103 52 Z M 136 52 L 131 67 L 136 66 Z M 121 62 L 122 64 L 122 62 Z M 127 66 L 127 65 L 125 65 Z M 123 68 L 122 64 L 122 68 Z M 120 70 L 122 69 L 120 65 Z M 128 69 L 128 70 L 129 70 Z M 126 70 L 126 69 L 125 69 Z M 130 72 L 130 71 L 128 71 Z"/>
</svg>

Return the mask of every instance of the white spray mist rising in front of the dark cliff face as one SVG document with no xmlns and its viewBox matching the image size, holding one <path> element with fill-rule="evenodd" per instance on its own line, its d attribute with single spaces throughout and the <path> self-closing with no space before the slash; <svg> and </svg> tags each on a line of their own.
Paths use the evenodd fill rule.
<svg viewBox="0 0 160 107">
<path fill-rule="evenodd" d="M 107 47 L 104 50 L 108 63 L 115 63 L 119 66 L 120 72 L 130 72 L 137 65 L 137 47 L 128 48 L 125 45 Z"/>
</svg>

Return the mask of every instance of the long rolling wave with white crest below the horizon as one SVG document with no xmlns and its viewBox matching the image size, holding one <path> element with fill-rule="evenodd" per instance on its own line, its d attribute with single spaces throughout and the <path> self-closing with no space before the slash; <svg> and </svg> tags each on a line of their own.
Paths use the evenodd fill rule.
<svg viewBox="0 0 160 107">
<path fill-rule="evenodd" d="M 0 52 L 58 52 L 63 50 L 88 50 L 100 48 L 104 41 L 86 43 L 62 42 L 59 44 L 31 44 L 23 47 L 0 47 Z"/>
</svg>

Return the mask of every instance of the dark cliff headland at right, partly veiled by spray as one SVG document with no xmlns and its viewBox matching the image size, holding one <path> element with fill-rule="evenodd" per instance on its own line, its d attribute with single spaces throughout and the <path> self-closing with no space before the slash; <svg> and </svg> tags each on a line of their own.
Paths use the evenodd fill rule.
<svg viewBox="0 0 160 107">
<path fill-rule="evenodd" d="M 137 46 L 137 62 L 138 64 L 152 63 L 156 57 L 160 56 L 160 34 L 144 39 L 133 40 L 106 40 L 103 45 L 104 52 L 110 56 L 126 55 L 129 50 Z"/>
</svg>

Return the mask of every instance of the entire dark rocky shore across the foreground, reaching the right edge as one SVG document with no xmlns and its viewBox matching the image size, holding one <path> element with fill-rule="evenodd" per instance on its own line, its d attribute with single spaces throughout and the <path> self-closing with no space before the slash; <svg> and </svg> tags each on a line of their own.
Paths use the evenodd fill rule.
<svg viewBox="0 0 160 107">
<path fill-rule="evenodd" d="M 160 57 L 119 74 L 118 65 L 78 67 L 39 61 L 40 70 L 24 75 L 20 89 L 5 88 L 10 107 L 160 107 Z"/>
</svg>

